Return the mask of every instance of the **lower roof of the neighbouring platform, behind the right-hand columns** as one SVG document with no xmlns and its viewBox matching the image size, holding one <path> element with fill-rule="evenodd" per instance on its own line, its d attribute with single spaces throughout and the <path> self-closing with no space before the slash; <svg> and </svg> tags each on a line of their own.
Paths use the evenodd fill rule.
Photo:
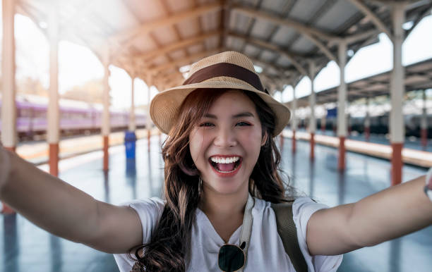
<svg viewBox="0 0 432 272">
<path fill-rule="evenodd" d="M 404 67 L 405 91 L 432 88 L 432 58 Z M 368 78 L 361 78 L 347 83 L 347 101 L 366 97 L 390 95 L 391 70 Z M 297 105 L 309 106 L 309 96 L 297 99 Z M 337 101 L 337 86 L 316 92 L 316 104 L 327 104 Z"/>
</svg>

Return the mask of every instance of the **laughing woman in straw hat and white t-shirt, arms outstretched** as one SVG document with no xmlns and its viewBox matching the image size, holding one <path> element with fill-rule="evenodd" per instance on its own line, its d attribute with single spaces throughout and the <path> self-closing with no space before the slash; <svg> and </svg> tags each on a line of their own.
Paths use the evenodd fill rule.
<svg viewBox="0 0 432 272">
<path fill-rule="evenodd" d="M 116 254 L 121 271 L 294 271 L 270 207 L 292 197 L 273 141 L 289 110 L 263 89 L 251 61 L 236 52 L 198 61 L 184 85 L 157 94 L 150 116 L 169 135 L 164 201 L 98 202 L 4 150 L 0 199 L 55 235 Z M 424 183 L 331 209 L 297 198 L 293 219 L 309 271 L 336 271 L 344 252 L 431 225 Z M 244 263 L 229 258 L 234 250 Z"/>
</svg>

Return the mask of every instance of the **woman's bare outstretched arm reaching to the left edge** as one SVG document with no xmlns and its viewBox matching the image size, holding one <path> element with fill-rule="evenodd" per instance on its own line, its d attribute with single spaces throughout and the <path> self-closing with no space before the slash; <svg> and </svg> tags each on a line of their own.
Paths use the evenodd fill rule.
<svg viewBox="0 0 432 272">
<path fill-rule="evenodd" d="M 0 171 L 0 199 L 50 233 L 109 253 L 142 243 L 141 223 L 132 208 L 97 201 L 1 144 Z"/>
</svg>

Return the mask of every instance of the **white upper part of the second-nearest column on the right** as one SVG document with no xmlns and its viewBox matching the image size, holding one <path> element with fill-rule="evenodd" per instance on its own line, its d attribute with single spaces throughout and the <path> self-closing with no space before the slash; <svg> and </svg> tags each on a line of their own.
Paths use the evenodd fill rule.
<svg viewBox="0 0 432 272">
<path fill-rule="evenodd" d="M 347 84 L 345 83 L 345 65 L 347 64 L 347 44 L 339 44 L 340 85 L 337 88 L 337 136 L 347 136 L 347 120 L 345 107 L 347 104 Z"/>
</svg>

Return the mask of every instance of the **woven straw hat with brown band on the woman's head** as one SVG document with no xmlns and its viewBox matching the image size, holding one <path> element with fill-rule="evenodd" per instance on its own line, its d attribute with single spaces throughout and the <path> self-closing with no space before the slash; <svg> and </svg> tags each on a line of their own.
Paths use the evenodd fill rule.
<svg viewBox="0 0 432 272">
<path fill-rule="evenodd" d="M 168 134 L 179 116 L 181 103 L 187 95 L 195 89 L 203 88 L 244 89 L 258 94 L 276 115 L 273 136 L 282 132 L 289 121 L 289 109 L 273 99 L 263 88 L 252 61 L 244 54 L 227 51 L 193 63 L 188 78 L 181 86 L 157 94 L 150 104 L 150 117 L 153 123 Z"/>
</svg>

